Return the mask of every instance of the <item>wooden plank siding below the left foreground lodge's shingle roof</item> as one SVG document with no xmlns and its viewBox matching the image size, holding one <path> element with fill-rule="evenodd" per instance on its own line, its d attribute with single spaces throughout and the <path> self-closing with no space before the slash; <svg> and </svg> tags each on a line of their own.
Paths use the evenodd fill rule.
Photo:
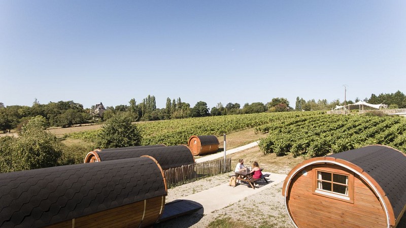
<svg viewBox="0 0 406 228">
<path fill-rule="evenodd" d="M 163 199 L 163 202 L 165 200 Z M 97 227 L 145 227 L 154 224 L 161 212 L 162 197 L 155 197 L 133 204 L 56 223 L 47 228 L 97 228 Z M 145 214 L 144 214 L 145 209 Z M 144 217 L 144 220 L 142 220 Z"/>
</svg>

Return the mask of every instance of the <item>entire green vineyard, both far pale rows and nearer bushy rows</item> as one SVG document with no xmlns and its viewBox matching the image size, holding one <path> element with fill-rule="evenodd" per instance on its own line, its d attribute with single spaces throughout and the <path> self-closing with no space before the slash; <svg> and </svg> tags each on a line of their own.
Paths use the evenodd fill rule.
<svg viewBox="0 0 406 228">
<path fill-rule="evenodd" d="M 383 144 L 406 151 L 406 119 L 397 116 L 327 115 L 321 112 L 259 113 L 137 124 L 142 145 L 187 144 L 192 135 L 229 134 L 254 128 L 268 134 L 260 141 L 266 153 L 294 156 L 323 156 L 369 144 Z M 96 142 L 99 130 L 71 133 L 68 138 Z"/>
</svg>

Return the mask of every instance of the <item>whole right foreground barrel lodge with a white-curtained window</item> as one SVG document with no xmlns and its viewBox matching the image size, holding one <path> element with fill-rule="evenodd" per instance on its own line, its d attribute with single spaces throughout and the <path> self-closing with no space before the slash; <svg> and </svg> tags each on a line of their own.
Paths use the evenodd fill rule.
<svg viewBox="0 0 406 228">
<path fill-rule="evenodd" d="M 282 194 L 295 227 L 397 227 L 406 210 L 406 155 L 369 145 L 305 160 Z"/>
</svg>

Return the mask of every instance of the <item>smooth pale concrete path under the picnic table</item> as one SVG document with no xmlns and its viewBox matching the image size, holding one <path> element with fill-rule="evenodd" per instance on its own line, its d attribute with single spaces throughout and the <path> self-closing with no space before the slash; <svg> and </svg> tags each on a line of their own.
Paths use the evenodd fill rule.
<svg viewBox="0 0 406 228">
<path fill-rule="evenodd" d="M 215 210 L 227 207 L 230 204 L 236 203 L 255 193 L 279 184 L 283 182 L 287 176 L 285 174 L 268 172 L 263 172 L 263 174 L 270 174 L 270 176 L 266 178 L 268 183 L 265 183 L 265 181 L 258 181 L 255 189 L 248 187 L 246 184 L 237 184 L 235 187 L 231 187 L 228 186 L 228 180 L 224 180 L 224 182 L 226 182 L 224 184 L 191 194 L 187 197 L 181 198 L 181 200 L 197 202 L 203 206 L 203 210 L 200 210 L 198 212 L 199 214 L 210 214 Z"/>
</svg>

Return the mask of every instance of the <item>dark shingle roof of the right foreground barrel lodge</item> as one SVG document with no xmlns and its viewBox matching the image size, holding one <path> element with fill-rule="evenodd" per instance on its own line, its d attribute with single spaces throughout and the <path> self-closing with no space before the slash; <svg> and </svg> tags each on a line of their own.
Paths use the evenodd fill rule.
<svg viewBox="0 0 406 228">
<path fill-rule="evenodd" d="M 386 146 L 371 145 L 328 155 L 357 165 L 374 178 L 392 204 L 395 218 L 406 205 L 406 156 Z"/>
</svg>

